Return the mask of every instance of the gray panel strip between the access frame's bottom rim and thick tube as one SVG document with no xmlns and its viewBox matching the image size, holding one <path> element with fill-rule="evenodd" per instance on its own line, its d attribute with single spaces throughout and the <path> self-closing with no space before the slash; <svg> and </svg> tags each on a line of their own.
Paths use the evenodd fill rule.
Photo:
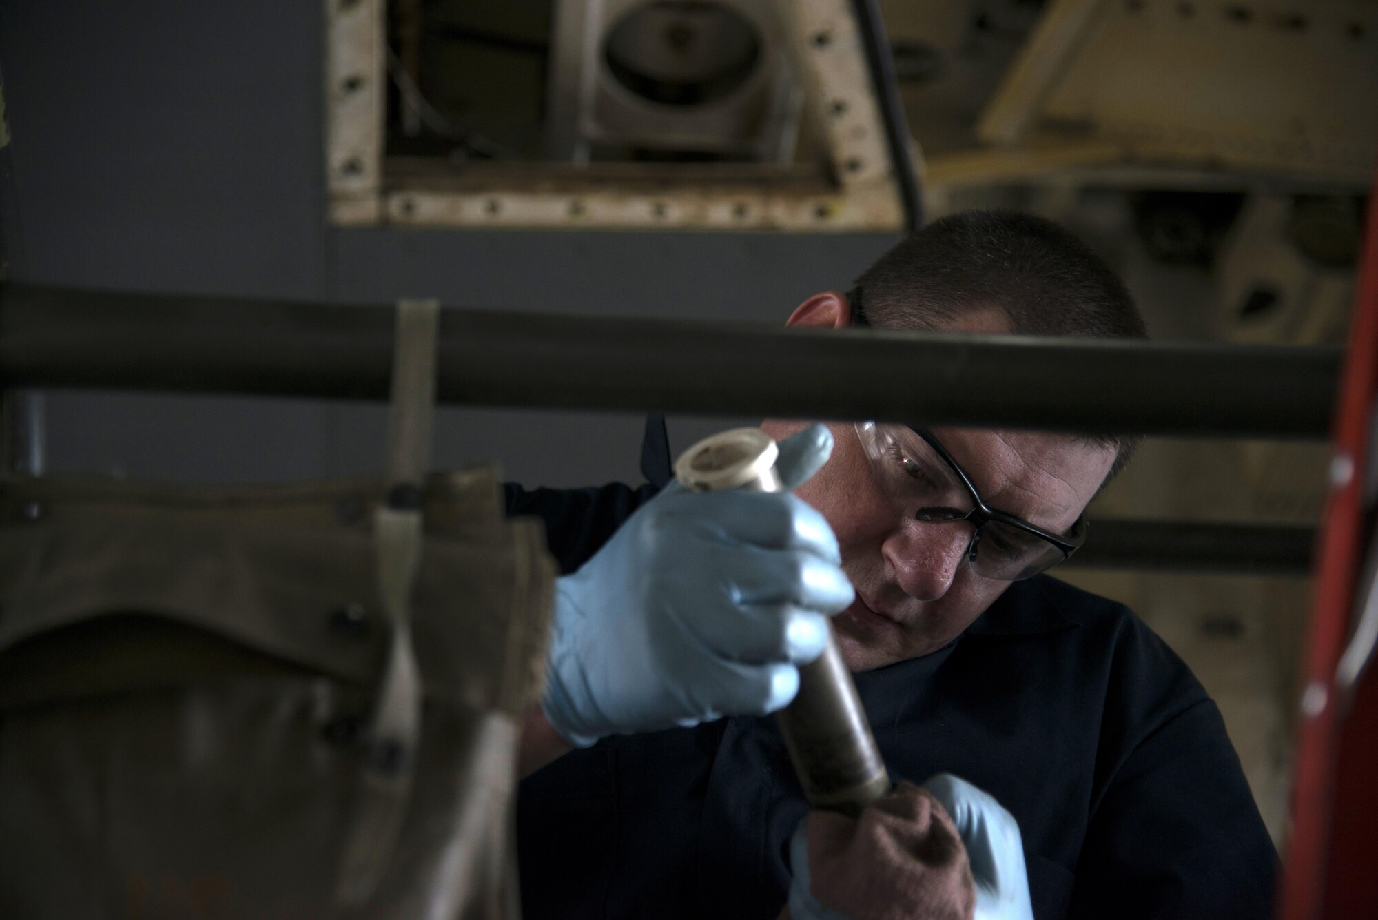
<svg viewBox="0 0 1378 920">
<path fill-rule="evenodd" d="M 434 296 L 537 313 L 784 322 L 810 293 L 846 289 L 889 234 L 346 230 L 336 293 Z"/>
</svg>

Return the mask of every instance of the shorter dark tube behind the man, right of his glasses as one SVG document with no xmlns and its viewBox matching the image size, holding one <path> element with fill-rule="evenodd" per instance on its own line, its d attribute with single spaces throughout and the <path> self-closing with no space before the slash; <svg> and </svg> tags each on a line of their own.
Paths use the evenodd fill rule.
<svg viewBox="0 0 1378 920">
<path fill-rule="evenodd" d="M 1093 516 L 1067 565 L 1295 577 L 1310 574 L 1315 545 L 1305 526 Z"/>
</svg>

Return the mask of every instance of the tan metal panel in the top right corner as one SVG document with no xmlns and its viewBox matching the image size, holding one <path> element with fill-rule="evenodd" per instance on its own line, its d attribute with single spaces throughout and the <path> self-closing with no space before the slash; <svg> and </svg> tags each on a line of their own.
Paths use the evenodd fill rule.
<svg viewBox="0 0 1378 920">
<path fill-rule="evenodd" d="M 978 135 L 1364 187 L 1375 101 L 1368 0 L 1054 0 Z"/>
</svg>

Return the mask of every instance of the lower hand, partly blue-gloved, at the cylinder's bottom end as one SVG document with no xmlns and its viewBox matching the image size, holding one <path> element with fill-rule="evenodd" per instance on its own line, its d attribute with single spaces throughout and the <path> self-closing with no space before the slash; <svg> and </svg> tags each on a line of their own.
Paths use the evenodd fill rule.
<svg viewBox="0 0 1378 920">
<path fill-rule="evenodd" d="M 1034 917 L 1014 817 L 945 773 L 923 788 L 901 782 L 856 819 L 810 813 L 790 865 L 790 920 Z"/>
</svg>

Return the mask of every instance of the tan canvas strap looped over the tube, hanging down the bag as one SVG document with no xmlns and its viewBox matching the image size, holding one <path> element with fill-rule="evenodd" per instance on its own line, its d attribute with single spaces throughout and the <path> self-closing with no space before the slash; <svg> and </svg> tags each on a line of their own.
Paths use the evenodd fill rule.
<svg viewBox="0 0 1378 920">
<path fill-rule="evenodd" d="M 336 883 L 336 898 L 344 905 L 367 901 L 387 870 L 420 742 L 422 679 L 412 646 L 411 600 L 422 556 L 422 485 L 430 466 L 438 329 L 438 302 L 398 302 L 384 500 L 373 515 L 379 605 L 389 624 L 389 646 Z"/>
</svg>

